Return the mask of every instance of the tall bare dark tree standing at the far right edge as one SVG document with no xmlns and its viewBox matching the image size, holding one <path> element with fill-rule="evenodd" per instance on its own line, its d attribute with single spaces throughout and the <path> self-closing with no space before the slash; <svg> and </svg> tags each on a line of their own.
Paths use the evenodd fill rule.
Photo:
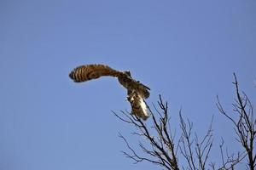
<svg viewBox="0 0 256 170">
<path fill-rule="evenodd" d="M 241 144 L 247 153 L 247 169 L 253 170 L 256 167 L 256 155 L 255 155 L 255 138 L 256 138 L 256 120 L 253 117 L 253 105 L 247 94 L 240 92 L 236 74 L 234 73 L 235 82 L 233 84 L 236 88 L 236 98 L 233 103 L 233 112 L 231 116 L 224 111 L 224 107 L 221 105 L 218 96 L 218 111 L 227 117 L 230 122 L 233 123 L 236 132 L 236 140 Z"/>
</svg>

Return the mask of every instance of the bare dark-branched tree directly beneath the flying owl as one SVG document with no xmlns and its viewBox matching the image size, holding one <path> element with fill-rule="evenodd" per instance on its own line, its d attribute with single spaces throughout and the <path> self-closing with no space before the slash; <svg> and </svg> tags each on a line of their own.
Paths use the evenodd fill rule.
<svg viewBox="0 0 256 170">
<path fill-rule="evenodd" d="M 148 107 L 148 111 L 153 119 L 153 125 L 151 127 L 148 127 L 146 122 L 143 122 L 135 115 L 131 115 L 129 112 L 122 111 L 123 116 L 119 116 L 113 112 L 121 121 L 130 123 L 132 126 L 136 127 L 137 131 L 133 132 L 133 134 L 143 137 L 148 142 L 148 144 L 143 144 L 142 142 L 139 143 L 139 147 L 146 155 L 140 156 L 137 154 L 137 151 L 131 148 L 131 145 L 125 137 L 119 134 L 119 136 L 125 140 L 128 149 L 131 150 L 131 154 L 125 151 L 123 151 L 123 153 L 125 156 L 134 160 L 135 163 L 140 161 L 149 161 L 161 167 L 165 167 L 168 170 L 178 170 L 178 146 L 174 144 L 174 136 L 172 136 L 170 131 L 168 105 L 167 103 L 164 104 L 161 98 L 158 105 L 162 111 L 160 112 L 155 109 L 159 117 L 156 117 L 153 111 Z M 154 106 L 154 108 L 156 107 Z M 154 130 L 154 132 L 152 130 Z M 154 135 L 154 133 L 156 133 L 156 135 Z"/>
</svg>

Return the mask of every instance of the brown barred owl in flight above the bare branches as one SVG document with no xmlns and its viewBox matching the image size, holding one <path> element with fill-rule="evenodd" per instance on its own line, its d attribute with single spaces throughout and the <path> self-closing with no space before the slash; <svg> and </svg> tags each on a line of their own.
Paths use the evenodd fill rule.
<svg viewBox="0 0 256 170">
<path fill-rule="evenodd" d="M 119 83 L 127 89 L 131 113 L 144 121 L 147 120 L 149 115 L 144 99 L 149 97 L 150 88 L 133 79 L 130 71 L 116 71 L 108 65 L 81 65 L 69 73 L 74 82 L 86 82 L 103 76 L 117 77 Z"/>
</svg>

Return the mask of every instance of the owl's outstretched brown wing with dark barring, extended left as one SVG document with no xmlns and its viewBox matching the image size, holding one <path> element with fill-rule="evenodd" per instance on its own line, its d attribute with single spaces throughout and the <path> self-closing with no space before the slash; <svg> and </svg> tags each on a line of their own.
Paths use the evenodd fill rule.
<svg viewBox="0 0 256 170">
<path fill-rule="evenodd" d="M 103 76 L 120 77 L 123 73 L 108 65 L 81 65 L 70 72 L 69 77 L 74 82 L 85 82 Z"/>
</svg>

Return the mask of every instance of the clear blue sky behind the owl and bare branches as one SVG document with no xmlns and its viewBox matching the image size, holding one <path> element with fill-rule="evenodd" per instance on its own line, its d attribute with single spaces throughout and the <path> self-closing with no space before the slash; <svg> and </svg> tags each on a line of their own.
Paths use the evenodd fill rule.
<svg viewBox="0 0 256 170">
<path fill-rule="evenodd" d="M 120 153 L 133 128 L 111 111 L 130 110 L 114 78 L 74 83 L 68 73 L 104 63 L 130 70 L 204 132 L 212 115 L 215 144 L 236 150 L 228 111 L 232 73 L 256 103 L 254 0 L 1 0 L 0 169 L 139 170 Z M 213 158 L 218 157 L 213 152 Z M 216 154 L 216 155 L 215 155 Z"/>
</svg>

